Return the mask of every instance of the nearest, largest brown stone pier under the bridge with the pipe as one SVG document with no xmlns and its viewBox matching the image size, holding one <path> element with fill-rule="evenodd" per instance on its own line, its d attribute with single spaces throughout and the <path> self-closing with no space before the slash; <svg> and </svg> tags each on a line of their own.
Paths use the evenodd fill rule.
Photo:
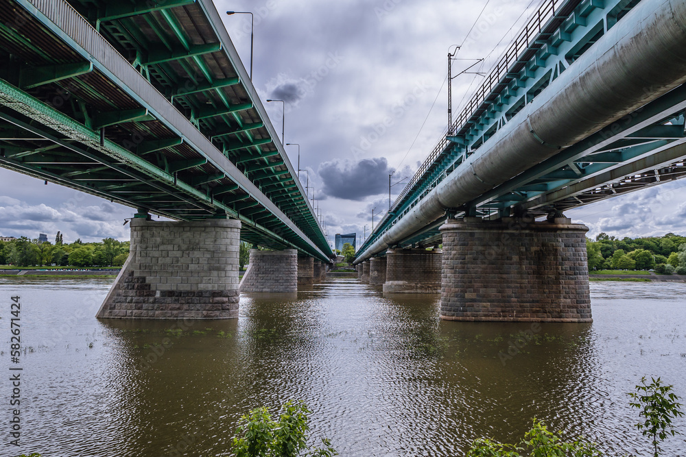
<svg viewBox="0 0 686 457">
<path fill-rule="evenodd" d="M 448 219 L 440 318 L 451 321 L 591 322 L 588 227 L 476 217 Z"/>
</svg>

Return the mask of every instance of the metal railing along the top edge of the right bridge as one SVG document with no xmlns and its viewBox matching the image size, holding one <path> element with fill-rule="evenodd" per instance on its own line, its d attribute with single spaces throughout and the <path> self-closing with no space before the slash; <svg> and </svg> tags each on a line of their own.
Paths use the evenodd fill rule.
<svg viewBox="0 0 686 457">
<path fill-rule="evenodd" d="M 543 32 L 543 29 L 546 28 L 546 25 L 552 21 L 552 19 L 556 18 L 556 14 L 558 14 L 566 3 L 579 3 L 579 1 L 543 0 L 536 13 L 529 18 L 517 37 L 514 38 L 510 47 L 506 49 L 497 63 L 493 66 L 488 76 L 486 76 L 484 83 L 477 88 L 471 99 L 467 101 L 456 121 L 449 126 L 449 129 L 445 129 L 444 134 L 441 136 L 440 140 L 438 140 L 434 149 L 431 150 L 429 156 L 423 164 L 421 164 L 416 173 L 414 173 L 412 180 L 407 183 L 407 186 L 405 186 L 397 199 L 395 199 L 392 210 L 395 210 L 395 208 L 403 202 L 405 197 L 407 197 L 407 194 L 414 190 L 414 186 L 421 181 L 438 155 L 448 147 L 449 140 L 446 137 L 448 132 L 458 132 L 458 127 L 461 127 L 471 119 L 482 103 L 486 101 L 486 97 L 494 92 L 497 86 L 504 84 L 503 79 L 508 76 L 508 73 L 511 73 L 512 67 L 518 63 L 525 63 L 519 59 L 530 49 L 530 45 L 534 43 L 536 37 Z"/>
</svg>

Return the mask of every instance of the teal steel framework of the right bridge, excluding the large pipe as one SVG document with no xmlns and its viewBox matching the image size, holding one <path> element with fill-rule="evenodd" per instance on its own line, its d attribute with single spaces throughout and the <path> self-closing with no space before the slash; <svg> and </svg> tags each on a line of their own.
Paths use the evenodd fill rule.
<svg viewBox="0 0 686 457">
<path fill-rule="evenodd" d="M 639 0 L 543 1 L 359 248 L 358 256 L 367 256 L 370 246 L 416 206 L 422 206 L 423 199 L 451 173 L 463 172 L 471 166 L 471 156 L 484 145 L 488 147 L 489 140 L 508 123 L 521 122 L 517 114 L 584 53 L 593 50 L 595 42 L 617 23 L 622 23 L 639 3 Z M 489 190 L 475 199 L 462 201 L 456 208 L 445 209 L 456 215 L 487 218 L 509 215 L 513 210 L 528 210 L 540 216 L 686 176 L 685 101 L 686 88 L 676 88 L 635 112 L 617 116 L 621 119 L 611 125 L 598 125 L 583 141 L 563 145 L 560 153 L 502 182 L 486 183 L 480 178 L 480 186 L 490 186 Z M 605 101 L 595 102 L 602 110 Z M 564 109 L 560 106 L 560 110 Z M 569 113 L 569 123 L 575 122 L 574 115 Z M 539 143 L 545 141 L 539 138 Z M 440 243 L 438 227 L 444 219 L 439 217 L 425 223 L 421 229 L 405 234 L 394 243 L 399 246 Z"/>
</svg>

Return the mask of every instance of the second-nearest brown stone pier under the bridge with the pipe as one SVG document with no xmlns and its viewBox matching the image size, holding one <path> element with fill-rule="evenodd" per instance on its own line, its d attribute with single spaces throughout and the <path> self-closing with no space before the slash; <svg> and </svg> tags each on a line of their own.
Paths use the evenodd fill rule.
<svg viewBox="0 0 686 457">
<path fill-rule="evenodd" d="M 386 258 L 384 293 L 440 292 L 440 249 L 388 249 Z"/>
</svg>

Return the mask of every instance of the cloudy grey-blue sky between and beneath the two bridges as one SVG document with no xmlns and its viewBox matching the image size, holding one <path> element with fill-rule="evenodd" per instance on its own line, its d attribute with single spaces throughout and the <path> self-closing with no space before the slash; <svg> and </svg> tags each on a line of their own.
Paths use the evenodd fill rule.
<svg viewBox="0 0 686 457">
<path fill-rule="evenodd" d="M 309 184 L 333 243 L 336 233 L 369 233 L 436 145 L 447 125 L 447 53 L 462 45 L 453 75 L 488 71 L 539 0 L 215 0 L 217 10 L 255 14 L 253 83 L 285 143 L 300 145 Z M 250 16 L 224 25 L 246 67 Z M 452 51 L 454 47 L 450 48 Z M 480 82 L 453 79 L 453 112 Z M 296 165 L 297 148 L 287 146 Z M 308 183 L 309 179 L 309 183 Z M 65 242 L 128 240 L 133 208 L 0 169 L 0 235 Z M 686 180 L 661 184 L 566 213 L 619 236 L 686 234 Z"/>
</svg>

